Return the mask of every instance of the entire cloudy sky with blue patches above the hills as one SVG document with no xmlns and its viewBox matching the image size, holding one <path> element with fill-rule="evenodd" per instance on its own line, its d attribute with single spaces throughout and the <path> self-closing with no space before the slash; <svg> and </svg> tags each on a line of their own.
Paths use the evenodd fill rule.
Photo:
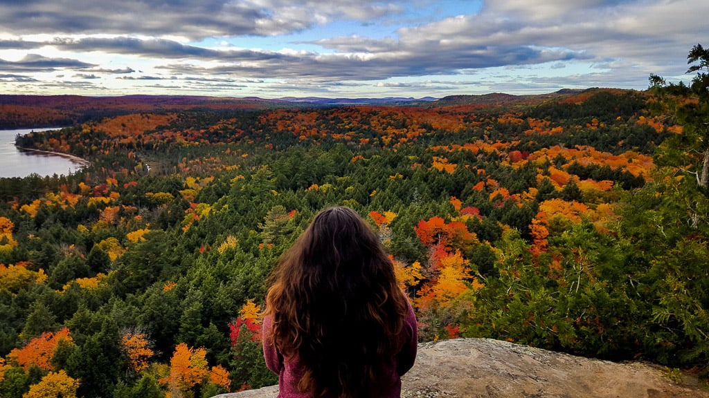
<svg viewBox="0 0 709 398">
<path fill-rule="evenodd" d="M 708 16 L 709 0 L 0 0 L 0 94 L 644 90 L 691 80 Z"/>
</svg>

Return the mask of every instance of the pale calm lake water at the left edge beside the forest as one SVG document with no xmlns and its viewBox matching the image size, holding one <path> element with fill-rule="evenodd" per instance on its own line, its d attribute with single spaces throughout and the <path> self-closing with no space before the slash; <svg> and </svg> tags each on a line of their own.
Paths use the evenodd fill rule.
<svg viewBox="0 0 709 398">
<path fill-rule="evenodd" d="M 17 149 L 15 136 L 25 135 L 33 130 L 57 129 L 0 130 L 0 177 L 26 177 L 33 173 L 40 176 L 66 175 L 82 168 L 82 164 L 66 157 Z"/>
</svg>

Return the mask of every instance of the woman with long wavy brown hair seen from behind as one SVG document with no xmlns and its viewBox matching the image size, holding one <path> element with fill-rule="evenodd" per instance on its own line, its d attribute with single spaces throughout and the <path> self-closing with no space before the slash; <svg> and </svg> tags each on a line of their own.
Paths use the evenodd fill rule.
<svg viewBox="0 0 709 398">
<path fill-rule="evenodd" d="M 401 396 L 418 331 L 376 233 L 357 212 L 318 213 L 281 256 L 266 297 L 266 365 L 281 398 Z"/>
</svg>

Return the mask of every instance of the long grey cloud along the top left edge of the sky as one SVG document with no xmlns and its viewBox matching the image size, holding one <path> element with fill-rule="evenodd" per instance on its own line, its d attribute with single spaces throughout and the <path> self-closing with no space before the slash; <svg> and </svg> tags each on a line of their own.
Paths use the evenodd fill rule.
<svg viewBox="0 0 709 398">
<path fill-rule="evenodd" d="M 33 0 L 0 2 L 0 26 L 16 35 L 113 34 L 201 38 L 281 35 L 401 8 L 374 0 Z"/>
</svg>

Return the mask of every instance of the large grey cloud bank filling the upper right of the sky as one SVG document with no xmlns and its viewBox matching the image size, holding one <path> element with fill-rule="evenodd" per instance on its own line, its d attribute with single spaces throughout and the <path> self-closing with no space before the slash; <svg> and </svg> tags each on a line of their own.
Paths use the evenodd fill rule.
<svg viewBox="0 0 709 398">
<path fill-rule="evenodd" d="M 709 2 L 671 3 L 558 0 L 544 6 L 523 0 L 487 1 L 477 14 L 400 28 L 396 40 L 350 36 L 313 44 L 352 55 L 353 67 L 376 66 L 389 72 L 381 76 L 454 74 L 552 61 L 558 65 L 574 59 L 626 59 L 647 76 L 683 59 L 693 43 L 688 33 L 706 31 Z M 659 51 L 658 43 L 669 52 Z"/>
</svg>

